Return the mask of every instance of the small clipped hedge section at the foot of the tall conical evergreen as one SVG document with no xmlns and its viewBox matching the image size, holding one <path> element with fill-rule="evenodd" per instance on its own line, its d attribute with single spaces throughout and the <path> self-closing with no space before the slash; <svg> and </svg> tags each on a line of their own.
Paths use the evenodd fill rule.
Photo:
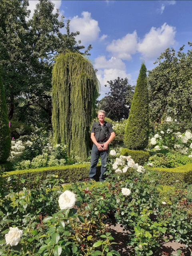
<svg viewBox="0 0 192 256">
<path fill-rule="evenodd" d="M 128 148 L 123 148 L 120 151 L 120 155 L 122 156 L 131 156 L 135 163 L 139 165 L 144 165 L 145 162 L 148 162 L 150 154 L 148 151 L 142 150 L 130 150 Z"/>
</svg>

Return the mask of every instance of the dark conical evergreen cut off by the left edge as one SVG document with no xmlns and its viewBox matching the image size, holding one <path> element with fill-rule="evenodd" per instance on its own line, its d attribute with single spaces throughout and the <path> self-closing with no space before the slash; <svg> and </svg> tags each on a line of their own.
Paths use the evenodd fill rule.
<svg viewBox="0 0 192 256">
<path fill-rule="evenodd" d="M 5 100 L 5 92 L 0 76 L 0 163 L 6 162 L 11 148 L 9 121 Z"/>
</svg>

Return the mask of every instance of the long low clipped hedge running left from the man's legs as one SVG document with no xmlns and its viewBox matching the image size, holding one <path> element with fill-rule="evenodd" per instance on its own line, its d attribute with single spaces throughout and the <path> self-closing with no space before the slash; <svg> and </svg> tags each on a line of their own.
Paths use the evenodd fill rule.
<svg viewBox="0 0 192 256">
<path fill-rule="evenodd" d="M 58 178 L 62 178 L 64 183 L 77 182 L 88 178 L 90 164 L 73 164 L 66 166 L 52 166 L 28 170 L 17 170 L 12 172 L 5 172 L 3 177 L 8 178 L 12 175 L 16 175 L 19 178 L 19 186 L 23 186 L 20 181 L 22 177 L 31 181 L 36 180 L 36 176 L 39 176 L 41 180 L 45 180 L 48 174 L 58 175 Z M 99 177 L 101 166 L 97 166 L 96 177 Z M 33 182 L 25 182 L 25 186 L 28 188 L 33 187 Z"/>
</svg>

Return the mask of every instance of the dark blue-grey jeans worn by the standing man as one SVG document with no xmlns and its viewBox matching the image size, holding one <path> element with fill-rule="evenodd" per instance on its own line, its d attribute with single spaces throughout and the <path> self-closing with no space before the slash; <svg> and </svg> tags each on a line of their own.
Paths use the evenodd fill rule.
<svg viewBox="0 0 192 256">
<path fill-rule="evenodd" d="M 96 167 L 99 160 L 99 157 L 101 156 L 101 179 L 105 178 L 104 172 L 106 172 L 106 163 L 108 160 L 108 153 L 109 153 L 109 146 L 107 150 L 99 151 L 97 146 L 93 144 L 92 152 L 91 152 L 91 163 L 90 163 L 90 169 L 89 169 L 89 177 L 94 178 L 96 176 Z"/>
</svg>

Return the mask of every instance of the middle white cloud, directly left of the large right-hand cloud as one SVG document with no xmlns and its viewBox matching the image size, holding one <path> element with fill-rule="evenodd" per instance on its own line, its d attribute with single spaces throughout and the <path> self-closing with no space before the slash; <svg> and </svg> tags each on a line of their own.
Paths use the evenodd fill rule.
<svg viewBox="0 0 192 256">
<path fill-rule="evenodd" d="M 112 55 L 122 60 L 130 60 L 131 54 L 135 54 L 137 50 L 137 32 L 126 34 L 121 39 L 113 40 L 106 48 Z"/>
</svg>

